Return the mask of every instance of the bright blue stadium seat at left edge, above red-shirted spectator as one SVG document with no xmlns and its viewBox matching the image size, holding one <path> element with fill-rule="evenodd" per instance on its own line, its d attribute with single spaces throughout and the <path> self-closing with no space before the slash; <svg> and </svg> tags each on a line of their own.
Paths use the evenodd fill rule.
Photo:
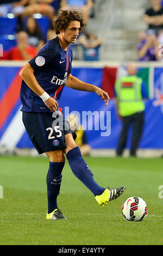
<svg viewBox="0 0 163 256">
<path fill-rule="evenodd" d="M 13 35 L 16 33 L 16 17 L 0 17 L 0 35 Z"/>
</svg>

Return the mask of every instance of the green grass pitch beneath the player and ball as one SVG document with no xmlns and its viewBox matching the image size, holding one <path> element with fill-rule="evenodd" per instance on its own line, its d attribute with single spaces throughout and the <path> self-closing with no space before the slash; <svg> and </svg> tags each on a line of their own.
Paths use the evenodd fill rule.
<svg viewBox="0 0 163 256">
<path fill-rule="evenodd" d="M 102 208 L 71 172 L 66 161 L 59 207 L 68 221 L 46 220 L 47 157 L 1 156 L 1 245 L 163 245 L 162 159 L 85 157 L 95 180 L 126 191 Z M 163 194 L 163 192 L 162 192 Z M 148 216 L 124 220 L 121 206 L 128 197 L 142 197 Z"/>
</svg>

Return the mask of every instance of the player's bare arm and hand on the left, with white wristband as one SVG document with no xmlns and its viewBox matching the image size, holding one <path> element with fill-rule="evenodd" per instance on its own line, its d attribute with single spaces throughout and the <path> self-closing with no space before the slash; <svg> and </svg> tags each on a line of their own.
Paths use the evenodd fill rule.
<svg viewBox="0 0 163 256">
<path fill-rule="evenodd" d="M 43 94 L 46 94 L 45 90 L 43 90 L 40 84 L 37 82 L 34 75 L 34 70 L 29 63 L 23 66 L 19 75 L 22 77 L 22 79 L 27 84 L 27 86 L 31 90 L 33 90 L 35 94 L 37 94 L 38 96 L 41 96 L 41 98 Z M 58 102 L 53 97 L 49 96 L 48 99 L 44 101 L 44 103 L 49 109 L 51 109 L 52 112 L 55 112 L 58 109 Z"/>
</svg>

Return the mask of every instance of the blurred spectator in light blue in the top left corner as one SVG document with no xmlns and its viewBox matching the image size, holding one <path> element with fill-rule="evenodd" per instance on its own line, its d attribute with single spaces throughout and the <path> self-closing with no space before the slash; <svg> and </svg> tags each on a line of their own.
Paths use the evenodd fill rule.
<svg viewBox="0 0 163 256">
<path fill-rule="evenodd" d="M 12 3 L 1 4 L 0 5 L 0 16 L 7 16 L 8 13 L 13 13 L 15 16 L 21 15 L 24 11 L 25 5 L 27 5 L 28 0 L 21 1 L 11 1 Z"/>
</svg>

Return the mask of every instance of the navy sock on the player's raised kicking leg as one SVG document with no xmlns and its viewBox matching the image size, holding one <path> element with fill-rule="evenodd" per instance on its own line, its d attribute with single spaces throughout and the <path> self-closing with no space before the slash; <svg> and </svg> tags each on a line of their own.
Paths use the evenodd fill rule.
<svg viewBox="0 0 163 256">
<path fill-rule="evenodd" d="M 79 147 L 73 148 L 67 153 L 67 160 L 70 164 L 72 172 L 76 177 L 83 182 L 83 184 L 89 188 L 94 196 L 99 196 L 105 190 L 100 187 L 93 179 L 93 174 L 90 168 L 87 166 L 85 160 L 82 158 Z"/>
</svg>

